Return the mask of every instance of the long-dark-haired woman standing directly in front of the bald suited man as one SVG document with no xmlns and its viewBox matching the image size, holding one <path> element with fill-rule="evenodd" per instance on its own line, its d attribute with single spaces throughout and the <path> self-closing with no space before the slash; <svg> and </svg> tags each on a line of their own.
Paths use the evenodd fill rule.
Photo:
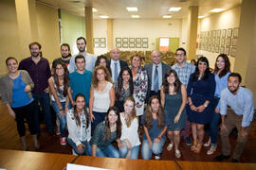
<svg viewBox="0 0 256 170">
<path fill-rule="evenodd" d="M 118 81 L 114 83 L 114 87 L 116 92 L 115 106 L 120 112 L 123 112 L 124 99 L 134 93 L 133 76 L 129 67 L 121 68 Z"/>
</svg>

